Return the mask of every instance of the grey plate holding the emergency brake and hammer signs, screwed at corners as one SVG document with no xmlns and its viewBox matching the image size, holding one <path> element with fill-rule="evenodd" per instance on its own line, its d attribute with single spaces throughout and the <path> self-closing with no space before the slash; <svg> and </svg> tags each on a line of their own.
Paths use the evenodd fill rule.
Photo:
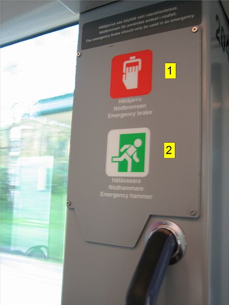
<svg viewBox="0 0 229 305">
<path fill-rule="evenodd" d="M 138 104 L 145 104 L 152 115 L 108 119 L 119 105 L 109 94 L 112 59 L 142 49 L 153 52 L 153 80 L 151 92 Z M 164 78 L 165 62 L 177 64 L 177 79 Z M 68 200 L 85 240 L 132 247 L 150 214 L 192 217 L 193 209 L 198 216 L 199 63 L 200 31 L 192 33 L 190 27 L 82 51 L 77 62 Z M 144 187 L 142 193 L 152 195 L 151 200 L 100 197 L 114 184 L 105 172 L 108 133 L 125 128 L 150 130 L 149 174 L 134 186 Z M 176 143 L 175 159 L 164 159 L 164 142 Z"/>
</svg>

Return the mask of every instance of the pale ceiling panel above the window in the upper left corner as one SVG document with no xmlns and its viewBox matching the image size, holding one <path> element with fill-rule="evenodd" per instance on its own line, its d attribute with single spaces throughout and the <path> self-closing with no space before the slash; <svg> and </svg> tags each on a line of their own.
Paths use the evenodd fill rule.
<svg viewBox="0 0 229 305">
<path fill-rule="evenodd" d="M 1 45 L 79 20 L 79 13 L 113 1 L 1 0 Z"/>
</svg>

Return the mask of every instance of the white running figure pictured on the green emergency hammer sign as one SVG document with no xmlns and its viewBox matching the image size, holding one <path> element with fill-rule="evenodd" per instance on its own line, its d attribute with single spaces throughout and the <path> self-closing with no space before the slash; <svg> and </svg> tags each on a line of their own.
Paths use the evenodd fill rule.
<svg viewBox="0 0 229 305">
<path fill-rule="evenodd" d="M 142 145 L 142 141 L 140 138 L 137 138 L 134 141 L 134 145 L 132 144 L 125 144 L 122 146 L 120 149 L 120 152 L 123 152 L 123 154 L 120 157 L 112 157 L 111 161 L 112 162 L 122 162 L 123 160 L 126 160 L 128 165 L 127 165 L 127 171 L 131 172 L 132 171 L 132 159 L 135 162 L 139 162 L 139 158 L 137 157 L 137 148 Z"/>
</svg>

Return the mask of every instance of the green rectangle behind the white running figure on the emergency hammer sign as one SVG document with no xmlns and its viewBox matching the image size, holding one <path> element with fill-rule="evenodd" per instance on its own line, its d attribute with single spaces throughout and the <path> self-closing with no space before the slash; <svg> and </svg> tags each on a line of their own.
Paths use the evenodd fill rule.
<svg viewBox="0 0 229 305">
<path fill-rule="evenodd" d="M 132 161 L 132 171 L 134 173 L 144 172 L 145 168 L 145 132 L 142 133 L 124 133 L 119 136 L 119 157 L 123 154 L 120 149 L 123 145 L 134 145 L 134 141 L 139 138 L 142 141 L 142 145 L 137 147 L 137 157 L 139 162 Z M 118 172 L 127 172 L 128 163 L 123 160 L 118 163 Z"/>
</svg>

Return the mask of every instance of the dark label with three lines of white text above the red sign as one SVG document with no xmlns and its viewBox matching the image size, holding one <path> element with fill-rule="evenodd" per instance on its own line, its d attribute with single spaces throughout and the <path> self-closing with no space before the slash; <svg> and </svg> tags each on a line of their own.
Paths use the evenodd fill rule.
<svg viewBox="0 0 229 305">
<path fill-rule="evenodd" d="M 82 50 L 201 23 L 201 1 L 165 1 L 85 23 Z"/>
</svg>

